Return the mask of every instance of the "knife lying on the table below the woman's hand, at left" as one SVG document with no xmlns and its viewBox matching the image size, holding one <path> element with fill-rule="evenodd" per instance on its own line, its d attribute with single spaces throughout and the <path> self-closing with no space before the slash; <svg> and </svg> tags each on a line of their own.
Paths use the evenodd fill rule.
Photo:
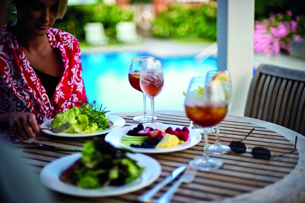
<svg viewBox="0 0 305 203">
<path fill-rule="evenodd" d="M 9 142 L 9 145 L 12 147 L 31 147 L 31 148 L 58 149 L 58 150 L 68 150 L 68 151 L 82 151 L 83 150 L 81 148 L 53 146 L 53 145 L 29 143 L 29 142 Z"/>
</svg>

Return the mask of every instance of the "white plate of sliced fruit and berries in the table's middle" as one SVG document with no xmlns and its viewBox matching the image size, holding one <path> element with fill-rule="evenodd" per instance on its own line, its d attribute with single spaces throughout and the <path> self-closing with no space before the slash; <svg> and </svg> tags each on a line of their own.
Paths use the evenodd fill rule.
<svg viewBox="0 0 305 203">
<path fill-rule="evenodd" d="M 187 126 L 138 124 L 116 129 L 105 140 L 117 148 L 138 153 L 170 153 L 196 145 L 201 135 Z"/>
</svg>

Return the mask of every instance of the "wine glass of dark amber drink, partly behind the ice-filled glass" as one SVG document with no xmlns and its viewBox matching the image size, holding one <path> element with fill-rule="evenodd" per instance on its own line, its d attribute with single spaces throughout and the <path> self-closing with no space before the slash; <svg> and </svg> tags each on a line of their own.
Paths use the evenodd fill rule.
<svg viewBox="0 0 305 203">
<path fill-rule="evenodd" d="M 141 56 L 141 57 L 134 57 L 129 68 L 128 72 L 128 79 L 129 83 L 131 86 L 142 92 L 143 94 L 143 114 L 139 116 L 135 116 L 133 119 L 138 122 L 148 122 L 151 120 L 151 116 L 146 113 L 146 95 L 145 93 L 141 90 L 140 87 L 140 71 L 141 71 L 141 66 L 142 66 L 142 61 L 143 60 L 155 60 L 154 57 L 148 57 L 148 56 Z M 155 117 L 157 119 L 157 117 Z"/>
</svg>

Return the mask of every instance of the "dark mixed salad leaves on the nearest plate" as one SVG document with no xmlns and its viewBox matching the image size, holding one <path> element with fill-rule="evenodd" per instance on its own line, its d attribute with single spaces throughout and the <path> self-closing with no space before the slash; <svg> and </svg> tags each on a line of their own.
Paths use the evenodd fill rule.
<svg viewBox="0 0 305 203">
<path fill-rule="evenodd" d="M 60 175 L 63 182 L 69 181 L 80 188 L 120 186 L 136 180 L 144 168 L 126 155 L 127 151 L 116 149 L 111 144 L 97 140 L 85 143 L 82 158 Z"/>
</svg>

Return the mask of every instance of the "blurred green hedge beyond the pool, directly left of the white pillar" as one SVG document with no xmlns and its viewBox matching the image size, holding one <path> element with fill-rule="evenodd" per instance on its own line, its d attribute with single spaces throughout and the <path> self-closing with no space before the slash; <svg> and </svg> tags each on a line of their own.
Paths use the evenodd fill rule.
<svg viewBox="0 0 305 203">
<path fill-rule="evenodd" d="M 196 8 L 175 4 L 156 17 L 152 34 L 158 38 L 199 37 L 216 40 L 216 17 L 216 5 Z"/>
</svg>

